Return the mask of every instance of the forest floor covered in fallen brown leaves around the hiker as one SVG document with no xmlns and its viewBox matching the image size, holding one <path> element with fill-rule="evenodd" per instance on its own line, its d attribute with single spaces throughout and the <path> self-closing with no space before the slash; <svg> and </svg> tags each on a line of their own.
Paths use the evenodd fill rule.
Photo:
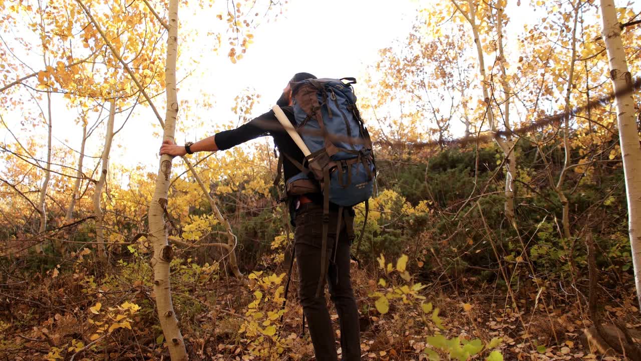
<svg viewBox="0 0 641 361">
<path fill-rule="evenodd" d="M 149 276 L 147 266 L 140 267 L 140 273 L 133 272 L 131 276 Z M 163 346 L 153 306 L 153 288 L 142 281 L 124 285 L 128 279 L 125 270 L 115 270 L 119 275 L 115 286 L 108 281 L 103 285 L 94 284 L 95 294 L 87 291 L 84 281 L 74 280 L 74 275 L 78 277 L 77 272 L 56 274 L 54 278 L 49 272 L 48 277 L 35 277 L 29 286 L 20 289 L 0 288 L 3 296 L 0 360 L 69 360 L 76 352 L 79 352 L 76 360 L 167 360 L 169 354 Z M 281 275 L 283 272 L 286 270 L 281 266 L 276 273 Z M 176 284 L 174 303 L 192 360 L 269 360 L 268 355 L 272 355 L 272 360 L 315 360 L 308 331 L 301 335 L 303 313 L 296 299 L 296 267 L 284 324 L 278 322 L 278 317 L 271 318 L 278 325 L 275 336 L 280 336 L 279 342 L 263 335 L 249 337 L 242 331 L 249 328 L 247 322 L 256 316 L 248 313 L 248 307 L 251 309 L 255 299 L 256 279 L 250 279 L 247 285 L 246 281 L 222 275 L 204 281 L 202 277 L 196 277 L 193 284 L 185 286 L 181 285 L 179 276 L 172 280 Z M 105 277 L 113 279 L 114 276 Z M 499 337 L 501 344 L 496 349 L 503 353 L 504 360 L 619 359 L 593 354 L 586 348 L 583 333 L 591 324 L 585 309 L 587 296 L 576 289 L 566 292 L 562 288 L 537 289 L 523 285 L 513 290 L 515 299 L 519 300 L 517 312 L 512 296 L 497 282 L 458 277 L 453 283 L 450 276 L 441 274 L 436 281 L 424 283 L 426 287 L 420 290 L 426 302 L 431 301 L 440 310 L 444 328 L 437 330 L 431 322 L 424 322 L 417 308 L 401 299 L 390 301 L 389 311 L 384 315 L 379 313 L 374 306 L 375 297 L 372 297 L 372 293 L 380 289 L 374 281 L 379 277 L 376 271 L 359 269 L 353 263 L 352 277 L 362 314 L 364 360 L 427 360 L 428 355 L 424 353 L 428 346 L 426 337 L 437 332 L 449 339 L 479 338 L 484 344 Z M 98 275 L 90 277 L 97 278 Z M 285 279 L 282 277 L 276 284 L 284 285 Z M 272 295 L 269 291 L 263 292 L 266 303 Z M 601 305 L 605 323 L 616 319 L 626 322 L 629 328 L 639 328 L 641 321 L 638 309 L 631 304 L 633 299 L 633 295 L 625 295 L 615 303 L 610 301 Z M 97 301 L 103 305 L 102 309 L 96 309 Z M 83 345 L 90 344 L 95 339 L 92 335 L 98 332 L 96 325 L 115 322 L 113 320 L 119 318 L 117 313 L 124 312 L 117 306 L 123 302 L 141 307 L 137 315 L 126 318 L 131 321 L 131 330 L 120 327 L 110 331 L 106 339 L 101 339 L 102 344 L 79 351 L 78 340 Z M 338 315 L 329 299 L 328 304 L 331 318 L 335 320 L 337 348 L 340 348 Z M 278 312 L 281 304 L 274 302 L 268 306 L 267 313 L 269 310 Z M 256 316 L 256 319 L 262 321 L 260 317 Z M 281 349 L 272 353 L 271 348 Z M 261 352 L 263 356 L 260 356 Z M 484 360 L 488 351 L 481 355 L 474 359 Z M 442 359 L 447 360 L 447 357 Z"/>
</svg>

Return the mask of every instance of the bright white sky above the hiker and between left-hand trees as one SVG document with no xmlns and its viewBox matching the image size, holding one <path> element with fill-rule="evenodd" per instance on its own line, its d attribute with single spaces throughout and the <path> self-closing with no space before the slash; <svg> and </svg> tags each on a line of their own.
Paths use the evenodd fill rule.
<svg viewBox="0 0 641 361">
<path fill-rule="evenodd" d="M 190 114 L 184 110 L 179 112 L 178 128 L 192 130 L 187 135 L 177 133 L 178 143 L 211 136 L 214 128 L 220 129 L 221 125 L 235 121 L 237 116 L 231 112 L 233 99 L 246 87 L 255 89 L 262 96 L 262 101 L 254 107 L 253 115 L 258 115 L 269 110 L 294 73 L 306 71 L 319 77 L 355 76 L 362 79 L 365 67 L 376 62 L 378 49 L 390 46 L 394 39 L 406 37 L 415 19 L 417 3 L 416 0 L 290 0 L 278 21 L 263 23 L 254 32 L 254 44 L 238 64 L 229 62 L 225 50 L 219 55 L 210 51 L 213 46 L 207 42 L 211 38 L 196 36 L 191 43 L 182 42 L 181 57 L 199 58 L 200 63 L 196 69 L 179 69 L 178 78 L 183 78 L 189 71 L 194 71 L 194 75 L 179 85 L 178 99 L 191 101 L 206 94 L 211 96 L 215 107 L 213 110 L 193 109 Z M 508 1 L 506 13 L 511 21 L 507 32 L 517 35 L 525 22 L 537 21 L 544 14 L 533 12 L 529 1 L 522 1 L 520 6 L 515 3 Z M 621 1 L 617 4 L 623 5 Z M 220 22 L 212 21 L 212 12 L 194 16 L 183 10 L 179 14 L 182 34 Z M 224 42 L 226 36 L 222 40 Z M 201 43 L 196 43 L 198 41 Z M 29 57 L 28 54 L 21 56 Z M 35 60 L 35 64 L 39 62 L 41 60 Z M 357 95 L 359 86 L 363 85 L 356 84 Z M 53 100 L 54 137 L 78 150 L 81 128 L 74 123 L 75 114 L 65 109 L 62 96 L 56 94 Z M 162 115 L 164 103 L 164 96 L 156 98 Z M 5 114 L 5 120 L 10 127 L 19 128 L 19 111 L 3 111 L 9 112 Z M 195 128 L 197 119 L 202 119 L 206 125 Z M 116 128 L 122 121 L 123 116 L 116 119 Z M 141 164 L 154 170 L 158 165 L 160 146 L 160 137 L 153 135 L 154 131 L 160 130 L 156 123 L 151 110 L 139 107 L 114 139 L 111 164 Z M 38 139 L 42 139 L 42 148 L 46 148 L 46 127 L 38 128 L 37 133 Z M 104 127 L 88 140 L 88 155 L 99 155 L 103 134 Z M 0 130 L 0 139 L 7 143 L 13 140 L 4 130 Z M 53 143 L 62 146 L 60 141 Z"/>
</svg>

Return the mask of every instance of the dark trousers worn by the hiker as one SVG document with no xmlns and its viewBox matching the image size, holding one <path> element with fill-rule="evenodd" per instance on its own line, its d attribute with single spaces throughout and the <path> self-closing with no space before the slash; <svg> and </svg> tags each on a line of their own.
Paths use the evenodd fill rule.
<svg viewBox="0 0 641 361">
<path fill-rule="evenodd" d="M 300 297 L 318 361 L 337 361 L 334 331 L 325 301 L 324 288 L 319 297 L 320 252 L 322 249 L 322 206 L 303 204 L 296 211 L 296 263 L 301 277 Z M 326 281 L 331 301 L 340 322 L 340 346 L 343 361 L 360 360 L 358 308 L 349 277 L 349 247 L 353 239 L 353 222 L 342 218 L 336 245 L 338 212 L 329 213 Z"/>
</svg>

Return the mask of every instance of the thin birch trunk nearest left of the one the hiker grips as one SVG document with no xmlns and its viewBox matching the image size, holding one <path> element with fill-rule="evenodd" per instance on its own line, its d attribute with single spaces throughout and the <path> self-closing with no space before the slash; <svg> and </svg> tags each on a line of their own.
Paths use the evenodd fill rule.
<svg viewBox="0 0 641 361">
<path fill-rule="evenodd" d="M 107 173 L 109 172 L 109 153 L 112 150 L 113 139 L 113 120 L 116 114 L 115 100 L 109 101 L 109 118 L 107 120 L 107 129 L 104 132 L 104 148 L 101 157 L 102 166 L 100 178 L 96 183 L 94 190 L 94 215 L 96 216 L 96 242 L 98 243 L 98 258 L 101 261 L 106 261 L 107 252 L 104 247 L 104 213 L 100 206 L 100 199 L 103 195 L 103 187 L 107 180 Z"/>
</svg>

